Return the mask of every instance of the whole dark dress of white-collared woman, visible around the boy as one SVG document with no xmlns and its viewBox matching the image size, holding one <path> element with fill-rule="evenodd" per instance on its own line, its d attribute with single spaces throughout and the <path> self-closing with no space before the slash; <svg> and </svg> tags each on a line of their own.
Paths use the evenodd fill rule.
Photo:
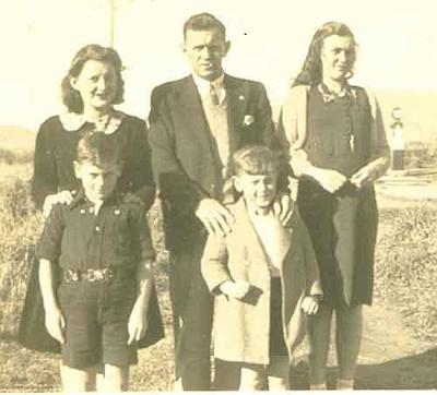
<svg viewBox="0 0 437 395">
<path fill-rule="evenodd" d="M 44 200 L 49 194 L 61 190 L 79 191 L 80 181 L 75 178 L 73 168 L 75 149 L 79 140 L 85 133 L 93 131 L 93 128 L 92 123 L 85 122 L 78 130 L 66 130 L 59 116 L 50 117 L 42 124 L 35 143 L 32 184 L 32 198 L 38 208 L 42 208 Z M 155 188 L 145 122 L 126 116 L 117 130 L 107 135 L 109 139 L 117 139 L 123 160 L 122 175 L 117 185 L 118 192 L 138 194 L 149 210 L 154 200 Z M 56 275 L 55 273 L 55 277 Z M 56 279 L 56 283 L 59 284 L 59 279 Z M 149 346 L 164 337 L 155 288 L 152 290 L 147 314 L 150 325 L 139 347 Z M 45 328 L 36 260 L 31 268 L 19 327 L 19 342 L 29 349 L 60 352 L 59 343 Z"/>
</svg>

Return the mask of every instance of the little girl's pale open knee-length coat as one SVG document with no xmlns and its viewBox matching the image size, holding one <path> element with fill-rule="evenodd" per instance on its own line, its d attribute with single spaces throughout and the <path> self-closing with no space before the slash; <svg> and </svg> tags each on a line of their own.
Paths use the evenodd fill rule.
<svg viewBox="0 0 437 395">
<path fill-rule="evenodd" d="M 214 355 L 248 363 L 269 363 L 270 273 L 263 246 L 240 199 L 228 206 L 236 222 L 226 237 L 210 236 L 202 259 L 202 274 L 217 295 L 214 310 Z M 309 354 L 307 316 L 300 309 L 307 295 L 322 295 L 312 246 L 298 211 L 284 239 L 281 264 L 282 311 L 291 362 Z M 246 280 L 251 288 L 243 300 L 227 298 L 218 286 Z"/>
</svg>

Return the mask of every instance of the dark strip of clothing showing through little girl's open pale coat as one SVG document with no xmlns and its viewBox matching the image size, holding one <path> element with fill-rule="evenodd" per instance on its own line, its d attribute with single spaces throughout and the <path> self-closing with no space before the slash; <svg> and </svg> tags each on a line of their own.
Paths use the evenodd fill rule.
<svg viewBox="0 0 437 395">
<path fill-rule="evenodd" d="M 269 355 L 287 356 L 282 320 L 281 278 L 272 277 L 270 286 L 270 336 Z"/>
</svg>

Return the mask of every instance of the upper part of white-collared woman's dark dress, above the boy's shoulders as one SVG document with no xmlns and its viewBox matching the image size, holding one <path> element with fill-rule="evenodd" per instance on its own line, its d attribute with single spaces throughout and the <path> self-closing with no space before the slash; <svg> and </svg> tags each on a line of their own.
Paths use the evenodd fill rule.
<svg viewBox="0 0 437 395">
<path fill-rule="evenodd" d="M 90 131 L 93 131 L 90 122 L 74 131 L 66 130 L 58 116 L 47 119 L 39 128 L 32 184 L 32 198 L 38 208 L 49 194 L 79 190 L 80 182 L 74 176 L 73 160 L 79 140 Z M 118 181 L 118 191 L 123 193 L 145 189 L 142 199 L 149 210 L 154 200 L 154 183 L 145 122 L 126 116 L 118 129 L 107 135 L 116 139 L 121 148 L 123 171 Z"/>
</svg>

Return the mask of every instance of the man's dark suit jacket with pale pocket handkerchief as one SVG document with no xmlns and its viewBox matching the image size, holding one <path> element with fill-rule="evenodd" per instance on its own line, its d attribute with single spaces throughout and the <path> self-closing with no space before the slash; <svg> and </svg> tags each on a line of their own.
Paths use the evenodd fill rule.
<svg viewBox="0 0 437 395">
<path fill-rule="evenodd" d="M 277 148 L 272 112 L 261 83 L 225 75 L 231 154 L 247 144 Z M 206 196 L 222 194 L 222 164 L 192 76 L 152 92 L 150 144 L 161 191 L 167 248 L 190 249 L 205 237 L 194 212 Z"/>
</svg>

